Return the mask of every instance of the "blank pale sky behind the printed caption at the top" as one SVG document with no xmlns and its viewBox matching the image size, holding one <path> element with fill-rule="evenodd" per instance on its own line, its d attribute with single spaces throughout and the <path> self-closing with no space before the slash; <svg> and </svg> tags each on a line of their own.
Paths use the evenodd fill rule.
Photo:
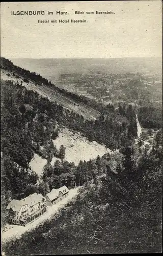
<svg viewBox="0 0 163 256">
<path fill-rule="evenodd" d="M 11 11 L 45 15 L 11 15 Z M 52 11 L 53 15 L 47 15 Z M 57 15 L 67 11 L 69 15 Z M 84 11 L 76 15 L 75 11 Z M 115 14 L 86 14 L 113 11 Z M 38 20 L 49 23 L 38 23 Z M 57 19 L 57 23 L 51 20 Z M 69 23 L 59 23 L 59 19 Z M 71 23 L 85 19 L 87 23 Z M 162 2 L 1 3 L 1 56 L 6 58 L 121 58 L 162 56 Z"/>
</svg>

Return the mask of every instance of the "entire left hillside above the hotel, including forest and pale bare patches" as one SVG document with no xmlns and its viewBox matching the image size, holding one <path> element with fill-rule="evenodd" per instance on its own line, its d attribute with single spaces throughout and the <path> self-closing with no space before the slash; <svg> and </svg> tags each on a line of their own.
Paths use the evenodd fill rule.
<svg viewBox="0 0 163 256">
<path fill-rule="evenodd" d="M 84 184 L 93 177 L 94 166 L 89 158 L 102 156 L 108 152 L 108 148 L 115 151 L 125 144 L 131 144 L 137 135 L 135 113 L 131 105 L 127 108 L 124 105 L 119 112 L 108 108 L 107 115 L 101 114 L 96 120 L 88 120 L 67 109 L 65 102 L 63 106 L 44 97 L 52 86 L 47 79 L 15 67 L 4 58 L 1 68 L 2 78 L 5 79 L 1 80 L 4 215 L 6 204 L 11 199 L 29 196 L 34 191 L 45 195 L 53 186 Z M 46 91 L 40 90 L 42 86 Z M 51 96 L 48 94 L 48 97 Z M 70 97 L 75 98 L 75 95 Z M 63 132 L 65 128 L 71 134 Z M 62 139 L 59 132 L 63 132 Z M 73 145 L 69 143 L 72 136 L 75 138 Z M 38 158 L 41 159 L 39 163 Z M 74 161 L 78 166 L 67 160 Z M 89 162 L 86 163 L 86 160 Z M 42 162 L 46 164 L 43 166 Z M 39 168 L 35 169 L 36 165 Z M 86 173 L 86 166 L 89 174 Z M 99 172 L 103 174 L 103 170 Z M 38 177 L 41 174 L 42 181 Z"/>
</svg>

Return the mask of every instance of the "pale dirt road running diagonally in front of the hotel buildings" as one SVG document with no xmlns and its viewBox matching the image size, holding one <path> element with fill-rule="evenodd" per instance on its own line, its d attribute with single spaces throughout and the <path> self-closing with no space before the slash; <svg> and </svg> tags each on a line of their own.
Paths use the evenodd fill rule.
<svg viewBox="0 0 163 256">
<path fill-rule="evenodd" d="M 2 242 L 10 240 L 13 237 L 21 237 L 21 235 L 26 231 L 30 231 L 36 228 L 39 224 L 43 223 L 44 221 L 51 219 L 60 208 L 62 208 L 66 203 L 68 203 L 68 201 L 70 201 L 73 197 L 75 197 L 78 194 L 79 188 L 80 187 L 70 189 L 69 196 L 67 198 L 64 198 L 61 202 L 59 202 L 56 205 L 53 205 L 52 207 L 48 207 L 47 211 L 41 217 L 29 223 L 25 227 L 6 224 L 2 231 Z"/>
</svg>

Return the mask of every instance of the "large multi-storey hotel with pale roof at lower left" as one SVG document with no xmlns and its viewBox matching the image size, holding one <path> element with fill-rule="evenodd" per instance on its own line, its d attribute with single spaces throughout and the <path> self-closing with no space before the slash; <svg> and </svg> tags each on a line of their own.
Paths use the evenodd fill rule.
<svg viewBox="0 0 163 256">
<path fill-rule="evenodd" d="M 32 194 L 24 199 L 13 199 L 7 206 L 7 219 L 11 224 L 25 226 L 46 211 L 46 199 L 41 194 Z"/>
</svg>

